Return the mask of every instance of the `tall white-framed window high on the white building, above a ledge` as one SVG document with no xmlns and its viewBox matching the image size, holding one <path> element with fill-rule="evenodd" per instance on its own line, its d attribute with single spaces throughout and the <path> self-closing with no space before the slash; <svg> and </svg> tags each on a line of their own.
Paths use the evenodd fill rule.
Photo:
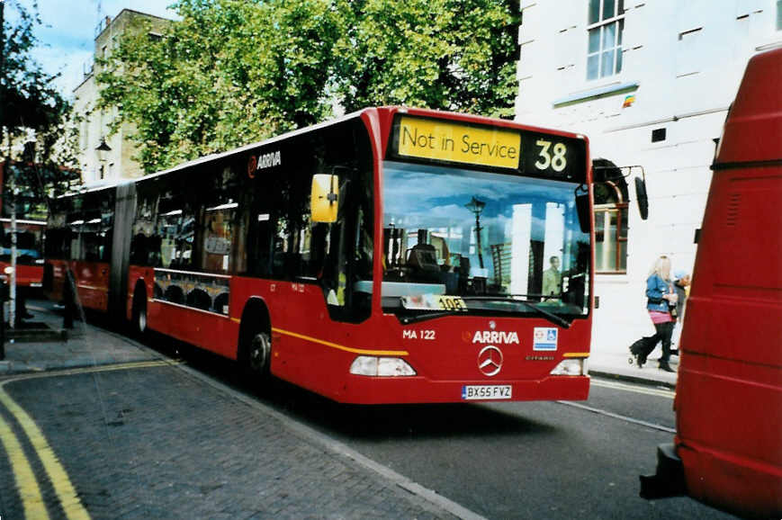
<svg viewBox="0 0 782 520">
<path fill-rule="evenodd" d="M 587 79 L 614 76 L 622 71 L 624 0 L 589 0 Z"/>
</svg>

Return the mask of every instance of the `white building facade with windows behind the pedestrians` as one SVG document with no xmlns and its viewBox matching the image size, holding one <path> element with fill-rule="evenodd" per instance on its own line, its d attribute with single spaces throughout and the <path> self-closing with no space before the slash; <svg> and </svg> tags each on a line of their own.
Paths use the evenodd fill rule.
<svg viewBox="0 0 782 520">
<path fill-rule="evenodd" d="M 692 270 L 715 139 L 747 60 L 782 46 L 782 1 L 521 0 L 521 9 L 517 121 L 578 131 L 592 159 L 645 172 L 648 220 L 634 200 L 640 168 L 629 191 L 596 187 L 592 348 L 625 354 L 653 333 L 644 290 L 654 259 Z"/>
</svg>

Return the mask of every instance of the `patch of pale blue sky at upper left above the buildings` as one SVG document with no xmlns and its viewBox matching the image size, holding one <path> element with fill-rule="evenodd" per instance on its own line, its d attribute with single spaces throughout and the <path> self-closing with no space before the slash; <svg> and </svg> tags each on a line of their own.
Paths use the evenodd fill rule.
<svg viewBox="0 0 782 520">
<path fill-rule="evenodd" d="M 33 0 L 18 0 L 28 9 Z M 57 85 L 68 99 L 84 79 L 94 56 L 95 28 L 105 16 L 112 19 L 122 9 L 176 18 L 168 9 L 173 0 L 38 0 L 42 25 L 35 29 L 41 44 L 33 56 L 49 74 L 60 72 Z M 6 7 L 7 13 L 7 7 Z M 99 14 L 100 13 L 100 14 Z M 7 17 L 7 14 L 6 14 Z M 7 17 L 10 22 L 10 17 Z"/>
</svg>

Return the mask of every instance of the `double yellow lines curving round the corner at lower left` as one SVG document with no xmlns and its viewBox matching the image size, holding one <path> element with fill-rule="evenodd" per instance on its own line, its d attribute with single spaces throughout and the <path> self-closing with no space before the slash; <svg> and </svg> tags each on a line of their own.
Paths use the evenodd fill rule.
<svg viewBox="0 0 782 520">
<path fill-rule="evenodd" d="M 62 372 L 25 374 L 14 377 L 12 379 L 0 381 L 0 405 L 8 410 L 16 423 L 22 428 L 24 435 L 27 436 L 27 439 L 38 456 L 44 471 L 46 471 L 49 482 L 51 483 L 51 487 L 54 489 L 54 492 L 59 500 L 59 504 L 62 507 L 65 516 L 69 520 L 90 518 L 90 515 L 87 513 L 87 510 L 82 505 L 81 500 L 78 498 L 76 489 L 67 476 L 67 471 L 65 471 L 65 468 L 63 468 L 62 464 L 59 462 L 57 455 L 54 453 L 54 450 L 51 449 L 51 446 L 46 440 L 46 437 L 43 435 L 43 432 L 40 431 L 40 428 L 35 424 L 35 421 L 32 419 L 32 417 L 30 417 L 30 415 L 24 411 L 24 408 L 20 407 L 16 401 L 14 401 L 11 396 L 8 395 L 4 389 L 4 386 L 13 381 L 40 379 L 43 377 L 59 377 L 95 372 L 112 372 L 118 370 L 169 366 L 172 364 L 176 364 L 176 362 L 161 360 L 139 363 L 123 363 L 73 369 Z M 16 489 L 18 490 L 19 496 L 22 499 L 24 516 L 26 518 L 49 518 L 49 512 L 47 511 L 46 504 L 44 504 L 43 498 L 40 494 L 39 482 L 35 478 L 35 474 L 32 471 L 32 467 L 30 461 L 27 458 L 27 455 L 24 453 L 22 443 L 13 433 L 12 426 L 10 426 L 7 421 L 5 421 L 2 414 L 0 414 L 0 444 L 3 445 L 5 453 L 8 454 L 8 460 L 11 463 Z"/>
</svg>

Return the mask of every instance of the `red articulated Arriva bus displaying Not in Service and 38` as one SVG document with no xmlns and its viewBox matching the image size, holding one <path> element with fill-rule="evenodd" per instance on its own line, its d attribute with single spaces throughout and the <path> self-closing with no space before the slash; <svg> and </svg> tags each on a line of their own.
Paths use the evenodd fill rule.
<svg viewBox="0 0 782 520">
<path fill-rule="evenodd" d="M 584 136 L 371 108 L 59 198 L 50 289 L 340 402 L 587 399 L 590 185 Z"/>
</svg>

